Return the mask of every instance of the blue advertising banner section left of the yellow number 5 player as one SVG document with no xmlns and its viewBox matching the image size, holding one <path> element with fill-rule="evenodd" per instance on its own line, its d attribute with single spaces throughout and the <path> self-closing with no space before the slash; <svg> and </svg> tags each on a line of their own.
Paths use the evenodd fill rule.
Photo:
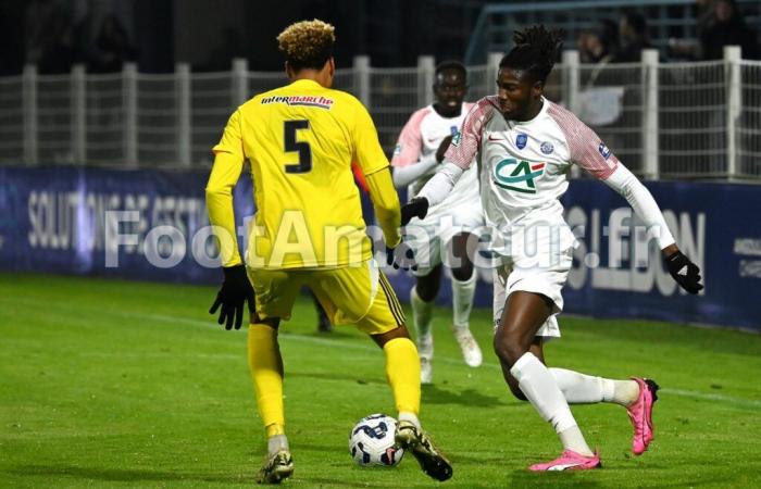
<svg viewBox="0 0 761 489">
<path fill-rule="evenodd" d="M 212 239 L 201 242 L 202 236 L 194 242 L 209 224 L 207 178 L 205 173 L 0 167 L 0 267 L 219 281 L 219 262 L 202 266 L 194 256 L 214 248 Z M 252 214 L 246 178 L 236 195 Z"/>
</svg>

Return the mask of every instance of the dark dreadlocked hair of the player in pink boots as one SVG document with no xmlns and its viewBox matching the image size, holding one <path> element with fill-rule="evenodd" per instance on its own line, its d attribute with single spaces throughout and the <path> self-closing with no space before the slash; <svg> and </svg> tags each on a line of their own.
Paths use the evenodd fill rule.
<svg viewBox="0 0 761 489">
<path fill-rule="evenodd" d="M 513 35 L 515 47 L 502 58 L 499 67 L 524 71 L 544 84 L 560 55 L 564 34 L 562 29 L 548 30 L 544 25 L 516 32 Z"/>
</svg>

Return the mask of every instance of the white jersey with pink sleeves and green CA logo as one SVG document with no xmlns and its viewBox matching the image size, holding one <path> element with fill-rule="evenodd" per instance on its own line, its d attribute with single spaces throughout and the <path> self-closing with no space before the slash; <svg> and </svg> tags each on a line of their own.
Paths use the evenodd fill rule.
<svg viewBox="0 0 761 489">
<path fill-rule="evenodd" d="M 507 121 L 498 106 L 496 96 L 481 99 L 445 160 L 469 168 L 476 159 L 486 222 L 500 235 L 495 238 L 515 241 L 516 230 L 546 223 L 553 233 L 560 231 L 562 247 L 573 244 L 559 200 L 567 189 L 571 165 L 606 179 L 619 160 L 594 130 L 547 99 L 537 116 L 525 122 Z"/>
</svg>

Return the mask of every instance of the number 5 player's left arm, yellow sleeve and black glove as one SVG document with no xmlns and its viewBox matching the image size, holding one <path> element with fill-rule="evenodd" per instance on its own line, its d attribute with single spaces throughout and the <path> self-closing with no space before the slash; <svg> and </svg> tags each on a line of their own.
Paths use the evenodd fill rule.
<svg viewBox="0 0 761 489">
<path fill-rule="evenodd" d="M 226 329 L 235 325 L 240 328 L 244 317 L 244 303 L 248 301 L 253 311 L 254 297 L 246 267 L 240 260 L 238 240 L 235 234 L 235 212 L 233 188 L 244 168 L 244 149 L 240 134 L 240 113 L 236 111 L 227 122 L 220 143 L 213 149 L 214 166 L 207 184 L 207 211 L 220 244 L 224 280 L 216 299 L 209 310 L 214 314 L 222 306 L 217 322 Z"/>
</svg>

